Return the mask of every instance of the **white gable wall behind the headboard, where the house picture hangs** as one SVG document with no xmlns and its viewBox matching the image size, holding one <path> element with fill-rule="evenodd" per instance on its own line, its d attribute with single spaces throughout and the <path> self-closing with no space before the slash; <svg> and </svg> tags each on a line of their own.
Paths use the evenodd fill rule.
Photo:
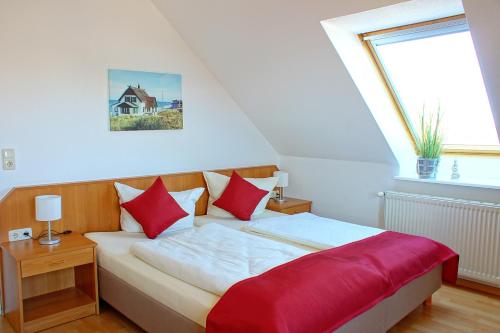
<svg viewBox="0 0 500 333">
<path fill-rule="evenodd" d="M 130 18 L 137 18 L 130 19 Z M 277 162 L 149 0 L 0 0 L 0 198 L 13 186 Z M 107 69 L 183 75 L 184 129 L 110 132 Z"/>
</svg>

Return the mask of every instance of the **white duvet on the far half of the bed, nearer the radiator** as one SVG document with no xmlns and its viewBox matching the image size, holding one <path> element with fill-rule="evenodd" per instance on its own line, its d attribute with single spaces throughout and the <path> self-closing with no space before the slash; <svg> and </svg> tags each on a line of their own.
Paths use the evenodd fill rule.
<svg viewBox="0 0 500 333">
<path fill-rule="evenodd" d="M 323 250 L 375 236 L 384 230 L 319 217 L 311 213 L 249 222 L 244 231 Z"/>
</svg>

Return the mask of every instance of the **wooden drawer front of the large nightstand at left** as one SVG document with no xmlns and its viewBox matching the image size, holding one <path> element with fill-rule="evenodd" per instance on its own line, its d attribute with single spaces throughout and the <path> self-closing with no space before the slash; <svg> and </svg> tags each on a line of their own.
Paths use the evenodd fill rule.
<svg viewBox="0 0 500 333">
<path fill-rule="evenodd" d="M 94 262 L 92 248 L 43 256 L 21 262 L 21 275 L 28 277 Z"/>
</svg>

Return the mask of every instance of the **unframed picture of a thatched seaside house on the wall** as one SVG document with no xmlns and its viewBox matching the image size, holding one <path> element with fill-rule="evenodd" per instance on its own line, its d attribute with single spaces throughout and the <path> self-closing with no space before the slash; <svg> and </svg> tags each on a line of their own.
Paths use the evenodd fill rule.
<svg viewBox="0 0 500 333">
<path fill-rule="evenodd" d="M 108 71 L 111 131 L 182 129 L 180 74 Z"/>
</svg>

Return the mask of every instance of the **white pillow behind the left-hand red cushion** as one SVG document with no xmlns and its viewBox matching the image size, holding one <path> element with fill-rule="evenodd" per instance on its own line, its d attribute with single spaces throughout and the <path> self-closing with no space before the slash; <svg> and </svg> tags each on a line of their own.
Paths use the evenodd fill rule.
<svg viewBox="0 0 500 333">
<path fill-rule="evenodd" d="M 144 192 L 143 190 L 139 190 L 118 182 L 115 182 L 115 188 L 116 192 L 118 192 L 120 204 L 133 200 Z M 184 209 L 184 211 L 189 215 L 172 224 L 164 232 L 186 229 L 194 225 L 194 211 L 196 209 L 196 201 L 198 201 L 198 199 L 201 197 L 203 191 L 205 191 L 203 187 L 198 187 L 182 192 L 168 192 L 179 204 L 179 206 L 181 206 L 181 208 Z M 123 231 L 144 232 L 142 230 L 142 226 L 133 218 L 132 215 L 130 215 L 129 212 L 127 212 L 125 208 L 120 207 L 120 211 L 120 226 Z"/>
</svg>

